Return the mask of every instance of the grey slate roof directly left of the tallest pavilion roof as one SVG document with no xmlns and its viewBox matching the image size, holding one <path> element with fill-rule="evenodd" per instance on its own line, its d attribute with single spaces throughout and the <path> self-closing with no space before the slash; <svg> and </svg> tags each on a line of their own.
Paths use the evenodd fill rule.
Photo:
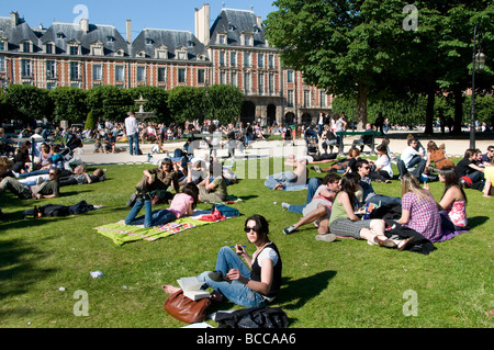
<svg viewBox="0 0 494 350">
<path fill-rule="evenodd" d="M 187 48 L 188 60 L 198 60 L 198 56 L 203 55 L 207 59 L 204 45 L 191 33 L 187 31 L 144 29 L 132 43 L 133 56 L 137 57 L 141 52 L 146 53 L 145 58 L 155 57 L 155 48 L 166 46 L 168 59 L 176 58 L 176 49 Z"/>
</svg>

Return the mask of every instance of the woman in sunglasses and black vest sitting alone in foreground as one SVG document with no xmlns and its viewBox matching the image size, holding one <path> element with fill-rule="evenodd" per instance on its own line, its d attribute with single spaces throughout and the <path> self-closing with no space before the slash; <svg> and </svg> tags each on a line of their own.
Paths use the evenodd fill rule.
<svg viewBox="0 0 494 350">
<path fill-rule="evenodd" d="M 214 290 L 212 300 L 226 297 L 243 307 L 266 306 L 277 296 L 281 287 L 282 261 L 274 242 L 268 238 L 269 224 L 261 215 L 249 216 L 245 221 L 245 233 L 256 247 L 252 256 L 243 246 L 236 245 L 220 249 L 214 271 L 205 271 L 198 279 L 203 289 Z M 242 261 L 242 258 L 244 261 Z M 170 284 L 162 286 L 167 294 L 180 289 Z"/>
</svg>

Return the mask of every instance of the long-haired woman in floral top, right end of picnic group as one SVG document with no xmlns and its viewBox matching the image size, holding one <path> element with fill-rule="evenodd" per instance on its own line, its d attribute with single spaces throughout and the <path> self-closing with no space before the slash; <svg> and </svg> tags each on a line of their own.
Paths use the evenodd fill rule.
<svg viewBox="0 0 494 350">
<path fill-rule="evenodd" d="M 453 167 L 444 167 L 439 170 L 439 181 L 445 184 L 445 192 L 438 203 L 441 228 L 450 232 L 467 228 L 467 195 L 460 184 Z M 424 190 L 429 191 L 429 184 L 424 183 Z M 429 191 L 430 192 L 430 191 Z"/>
</svg>

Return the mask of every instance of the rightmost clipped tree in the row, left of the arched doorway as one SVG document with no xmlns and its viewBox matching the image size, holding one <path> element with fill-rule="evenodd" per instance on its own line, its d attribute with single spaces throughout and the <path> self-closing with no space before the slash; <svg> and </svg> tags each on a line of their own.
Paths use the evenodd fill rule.
<svg viewBox="0 0 494 350">
<path fill-rule="evenodd" d="M 209 113 L 220 124 L 228 124 L 239 117 L 244 94 L 228 84 L 214 84 L 207 88 Z"/>
</svg>

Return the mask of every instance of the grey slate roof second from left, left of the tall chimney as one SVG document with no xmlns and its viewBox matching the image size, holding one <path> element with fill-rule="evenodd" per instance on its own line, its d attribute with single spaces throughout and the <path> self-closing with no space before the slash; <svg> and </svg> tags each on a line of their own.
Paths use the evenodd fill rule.
<svg viewBox="0 0 494 350">
<path fill-rule="evenodd" d="M 109 41 L 109 37 L 113 39 Z M 115 56 L 117 49 L 128 56 L 128 44 L 113 25 L 89 24 L 89 32 L 85 33 L 80 24 L 54 22 L 40 38 L 43 44 L 55 43 L 57 55 L 69 55 L 67 43 L 74 39 L 81 43 L 82 55 L 90 54 L 91 44 L 101 42 L 104 56 Z"/>
</svg>

